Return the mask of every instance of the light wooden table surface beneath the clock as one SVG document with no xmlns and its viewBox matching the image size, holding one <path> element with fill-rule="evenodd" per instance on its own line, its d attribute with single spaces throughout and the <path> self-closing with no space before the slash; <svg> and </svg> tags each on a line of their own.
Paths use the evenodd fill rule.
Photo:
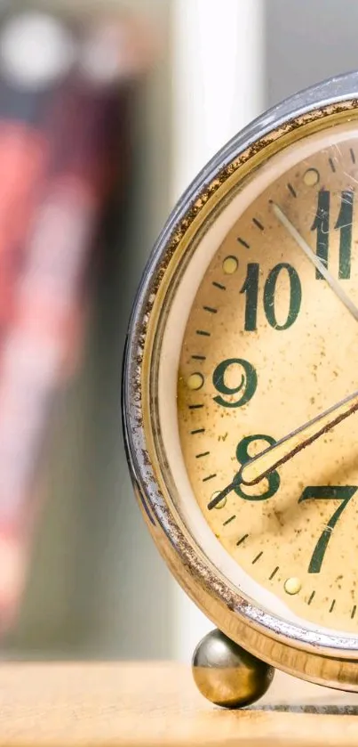
<svg viewBox="0 0 358 747">
<path fill-rule="evenodd" d="M 3 663 L 0 744 L 357 747 L 358 696 L 278 674 L 254 709 L 227 711 L 203 700 L 184 665 Z"/>
</svg>

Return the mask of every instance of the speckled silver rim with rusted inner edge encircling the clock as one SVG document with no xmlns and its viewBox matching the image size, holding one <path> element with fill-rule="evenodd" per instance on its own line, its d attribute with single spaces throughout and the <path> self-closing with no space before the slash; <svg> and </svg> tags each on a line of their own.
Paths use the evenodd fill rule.
<svg viewBox="0 0 358 747">
<path fill-rule="evenodd" d="M 327 117 L 328 114 L 340 110 L 346 112 L 350 109 L 356 110 L 357 97 L 358 73 L 333 78 L 303 93 L 298 93 L 274 107 L 227 143 L 205 166 L 171 213 L 148 260 L 131 314 L 123 367 L 123 423 L 132 479 L 137 485 L 137 491 L 152 524 L 155 522 L 155 516 L 159 524 L 162 524 L 164 520 L 167 539 L 171 541 L 174 548 L 180 549 L 181 562 L 187 564 L 193 576 L 198 576 L 202 584 L 209 586 L 211 593 L 217 594 L 221 602 L 224 602 L 233 613 L 236 611 L 240 614 L 244 613 L 242 605 L 240 605 L 240 610 L 237 609 L 237 597 L 228 594 L 227 587 L 223 588 L 222 584 L 218 584 L 218 580 L 213 578 L 210 572 L 208 575 L 209 569 L 205 564 L 198 563 L 198 558 L 193 554 L 193 548 L 190 548 L 187 540 L 181 535 L 172 517 L 165 510 L 163 514 L 165 501 L 158 493 L 155 475 L 147 458 L 141 412 L 141 364 L 147 323 L 155 302 L 156 292 L 179 241 L 203 205 L 220 184 L 242 165 L 243 159 L 251 158 L 258 149 L 266 148 L 275 138 L 303 124 L 306 125 L 309 121 Z M 195 597 L 195 595 L 191 596 Z M 339 653 L 341 655 L 343 653 L 346 657 L 358 655 L 358 639 L 353 641 L 352 638 L 334 635 L 314 636 L 313 633 L 308 633 L 305 629 L 289 623 L 282 625 L 282 621 L 275 620 L 274 616 L 259 608 L 252 608 L 247 603 L 246 614 L 248 618 L 251 618 L 251 624 L 253 622 L 255 626 L 256 622 L 258 629 L 262 629 L 262 634 L 266 637 L 267 635 L 277 637 L 282 640 L 282 644 L 284 638 L 285 646 L 306 646 L 307 650 L 311 649 L 316 654 L 317 649 L 320 649 L 324 657 L 330 654 L 334 656 L 336 649 L 340 649 Z"/>
</svg>

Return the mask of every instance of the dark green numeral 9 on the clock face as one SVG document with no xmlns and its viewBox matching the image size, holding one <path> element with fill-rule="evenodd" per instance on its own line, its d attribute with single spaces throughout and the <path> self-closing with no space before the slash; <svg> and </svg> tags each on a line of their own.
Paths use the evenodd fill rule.
<svg viewBox="0 0 358 747">
<path fill-rule="evenodd" d="M 236 386 L 227 384 L 230 369 L 232 374 L 234 371 L 237 372 L 236 380 L 239 383 Z M 227 358 L 227 361 L 219 363 L 214 370 L 212 383 L 219 392 L 218 396 L 214 397 L 214 402 L 218 402 L 221 407 L 243 407 L 244 404 L 250 402 L 256 392 L 258 375 L 249 361 L 244 361 L 243 358 Z M 240 396 L 233 400 L 235 394 Z"/>
</svg>

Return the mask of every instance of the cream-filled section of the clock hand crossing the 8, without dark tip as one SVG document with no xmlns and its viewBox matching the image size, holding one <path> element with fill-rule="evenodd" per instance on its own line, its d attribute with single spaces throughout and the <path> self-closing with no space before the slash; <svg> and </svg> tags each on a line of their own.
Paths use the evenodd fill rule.
<svg viewBox="0 0 358 747">
<path fill-rule="evenodd" d="M 273 446 L 269 446 L 268 449 L 258 454 L 257 457 L 250 459 L 241 470 L 241 482 L 245 485 L 259 483 L 265 475 L 268 475 L 276 467 L 280 467 L 284 462 L 294 457 L 298 451 L 305 449 L 316 438 L 330 431 L 331 428 L 337 426 L 349 415 L 353 415 L 356 410 L 358 410 L 358 390 L 334 404 L 329 410 L 324 410 L 297 430 L 284 436 Z"/>
</svg>

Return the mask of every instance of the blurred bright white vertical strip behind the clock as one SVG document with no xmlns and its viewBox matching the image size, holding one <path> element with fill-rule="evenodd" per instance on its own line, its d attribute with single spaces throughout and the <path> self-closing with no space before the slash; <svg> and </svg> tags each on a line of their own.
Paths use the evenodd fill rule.
<svg viewBox="0 0 358 747">
<path fill-rule="evenodd" d="M 262 0 L 174 0 L 171 199 L 263 109 Z M 212 628 L 177 585 L 173 656 L 190 660 Z"/>
</svg>

